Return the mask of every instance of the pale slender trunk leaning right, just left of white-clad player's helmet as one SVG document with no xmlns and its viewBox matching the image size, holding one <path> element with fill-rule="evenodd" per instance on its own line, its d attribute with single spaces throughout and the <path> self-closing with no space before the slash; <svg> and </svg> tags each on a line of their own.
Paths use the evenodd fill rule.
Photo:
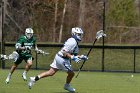
<svg viewBox="0 0 140 93">
<path fill-rule="evenodd" d="M 66 7 L 67 7 L 67 0 L 65 0 L 65 2 L 64 2 L 63 15 L 62 15 L 62 23 L 61 23 L 60 32 L 59 32 L 59 43 L 62 40 L 62 31 L 63 31 L 63 23 L 64 23 L 64 18 L 65 18 Z"/>
</svg>

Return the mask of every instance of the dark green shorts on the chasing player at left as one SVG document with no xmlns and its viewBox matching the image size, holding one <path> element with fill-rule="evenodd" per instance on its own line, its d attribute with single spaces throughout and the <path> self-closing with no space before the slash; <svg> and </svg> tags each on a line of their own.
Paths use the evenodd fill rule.
<svg viewBox="0 0 140 93">
<path fill-rule="evenodd" d="M 19 55 L 19 58 L 17 59 L 16 62 L 14 62 L 16 65 L 19 65 L 22 61 L 27 62 L 27 60 L 32 60 L 32 55 L 28 54 L 28 55 Z"/>
</svg>

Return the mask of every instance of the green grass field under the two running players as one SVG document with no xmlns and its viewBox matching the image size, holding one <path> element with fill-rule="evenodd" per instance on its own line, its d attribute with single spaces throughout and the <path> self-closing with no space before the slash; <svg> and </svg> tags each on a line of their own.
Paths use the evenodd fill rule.
<svg viewBox="0 0 140 93">
<path fill-rule="evenodd" d="M 27 82 L 21 78 L 22 71 L 16 70 L 11 82 L 5 84 L 9 70 L 0 70 L 0 93 L 68 93 L 63 89 L 64 72 L 59 71 L 53 77 L 41 79 L 32 89 L 28 89 Z M 43 70 L 30 70 L 28 77 L 41 72 Z M 134 77 L 131 77 L 132 74 Z M 72 86 L 76 88 L 76 93 L 140 93 L 140 74 L 81 72 L 78 78 L 73 79 Z"/>
</svg>

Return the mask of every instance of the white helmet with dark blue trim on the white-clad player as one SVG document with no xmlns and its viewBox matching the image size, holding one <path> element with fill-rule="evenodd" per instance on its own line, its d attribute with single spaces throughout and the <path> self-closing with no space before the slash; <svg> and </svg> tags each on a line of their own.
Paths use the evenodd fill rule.
<svg viewBox="0 0 140 93">
<path fill-rule="evenodd" d="M 81 41 L 84 32 L 83 32 L 83 30 L 82 30 L 81 28 L 79 28 L 79 27 L 74 27 L 74 28 L 72 28 L 72 30 L 71 30 L 71 34 L 72 34 L 72 36 L 73 36 L 76 40 Z"/>
</svg>

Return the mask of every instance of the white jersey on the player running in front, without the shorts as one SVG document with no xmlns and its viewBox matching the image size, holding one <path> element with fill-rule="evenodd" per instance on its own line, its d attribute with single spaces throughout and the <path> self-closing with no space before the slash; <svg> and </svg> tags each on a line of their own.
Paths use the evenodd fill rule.
<svg viewBox="0 0 140 93">
<path fill-rule="evenodd" d="M 79 48 L 78 43 L 74 38 L 69 38 L 65 43 L 63 48 L 58 52 L 58 54 L 63 56 L 63 51 L 70 54 L 78 54 Z"/>
</svg>

